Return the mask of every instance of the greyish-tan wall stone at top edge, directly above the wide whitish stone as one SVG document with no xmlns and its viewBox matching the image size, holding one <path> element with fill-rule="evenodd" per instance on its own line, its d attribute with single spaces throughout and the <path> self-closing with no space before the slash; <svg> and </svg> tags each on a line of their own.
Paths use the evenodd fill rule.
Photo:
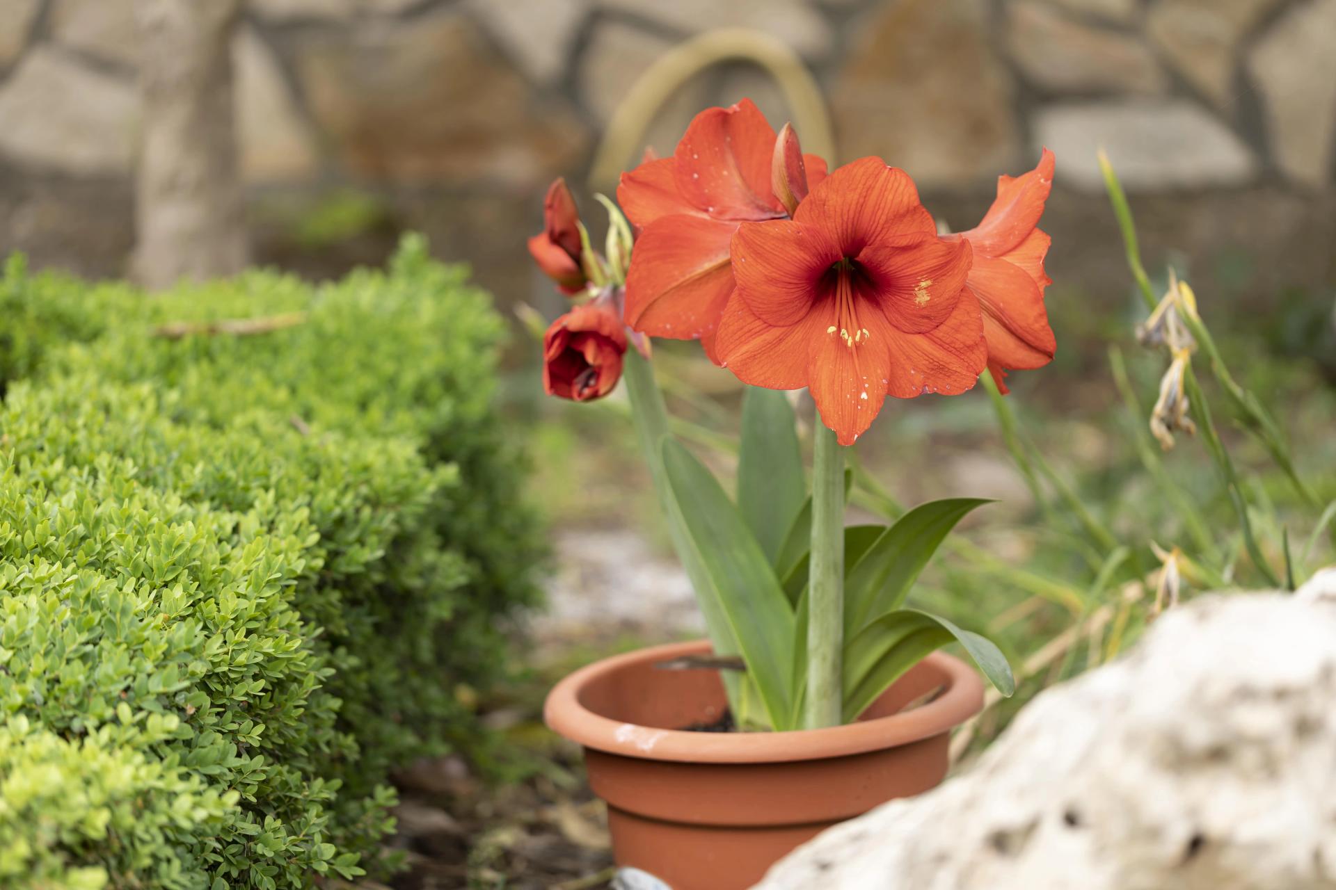
<svg viewBox="0 0 1336 890">
<path fill-rule="evenodd" d="M 1007 8 L 1007 45 L 1021 71 L 1053 91 L 1161 93 L 1168 85 L 1137 37 L 1079 24 L 1027 0 Z"/>
</svg>

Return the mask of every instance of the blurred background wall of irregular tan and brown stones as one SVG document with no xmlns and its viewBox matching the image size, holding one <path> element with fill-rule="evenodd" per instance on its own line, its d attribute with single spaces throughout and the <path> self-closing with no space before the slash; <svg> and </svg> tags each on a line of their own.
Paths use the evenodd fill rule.
<svg viewBox="0 0 1336 890">
<path fill-rule="evenodd" d="M 124 271 L 132 3 L 4 0 L 0 251 Z M 904 167 L 953 227 L 993 176 L 1053 148 L 1059 284 L 1122 292 L 1101 144 L 1152 262 L 1169 246 L 1205 268 L 1246 252 L 1257 299 L 1333 278 L 1336 0 L 251 0 L 235 63 L 255 255 L 327 275 L 421 228 L 502 299 L 528 299 L 541 188 L 582 181 L 657 53 L 723 25 L 798 51 L 842 157 Z M 724 65 L 647 140 L 671 151 L 693 111 L 743 95 L 788 116 L 758 71 Z"/>
</svg>

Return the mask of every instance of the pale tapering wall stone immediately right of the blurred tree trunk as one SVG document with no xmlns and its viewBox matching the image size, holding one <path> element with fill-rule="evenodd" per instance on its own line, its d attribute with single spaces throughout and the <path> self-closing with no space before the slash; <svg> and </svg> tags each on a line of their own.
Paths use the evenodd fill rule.
<svg viewBox="0 0 1336 890">
<path fill-rule="evenodd" d="M 302 117 L 273 51 L 251 28 L 236 32 L 232 64 L 242 177 L 290 181 L 313 176 L 319 165 L 315 135 Z"/>
</svg>

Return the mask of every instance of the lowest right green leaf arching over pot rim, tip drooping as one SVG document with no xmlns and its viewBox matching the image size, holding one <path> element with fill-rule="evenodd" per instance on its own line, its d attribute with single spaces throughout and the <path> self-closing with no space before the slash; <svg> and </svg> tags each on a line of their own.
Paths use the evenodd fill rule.
<svg viewBox="0 0 1336 890">
<path fill-rule="evenodd" d="M 916 608 L 896 608 L 871 622 L 844 644 L 844 721 L 858 719 L 925 655 L 953 640 L 965 647 L 1002 695 L 1015 693 L 1011 667 L 991 640 L 961 630 L 938 615 Z"/>
</svg>

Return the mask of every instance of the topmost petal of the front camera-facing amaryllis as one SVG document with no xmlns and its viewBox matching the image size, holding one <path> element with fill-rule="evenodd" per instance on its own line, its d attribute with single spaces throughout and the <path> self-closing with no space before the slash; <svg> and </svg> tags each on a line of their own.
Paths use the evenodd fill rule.
<svg viewBox="0 0 1336 890">
<path fill-rule="evenodd" d="M 914 180 L 880 157 L 860 157 L 812 185 L 794 219 L 826 228 L 846 256 L 878 242 L 937 234 Z"/>
</svg>

